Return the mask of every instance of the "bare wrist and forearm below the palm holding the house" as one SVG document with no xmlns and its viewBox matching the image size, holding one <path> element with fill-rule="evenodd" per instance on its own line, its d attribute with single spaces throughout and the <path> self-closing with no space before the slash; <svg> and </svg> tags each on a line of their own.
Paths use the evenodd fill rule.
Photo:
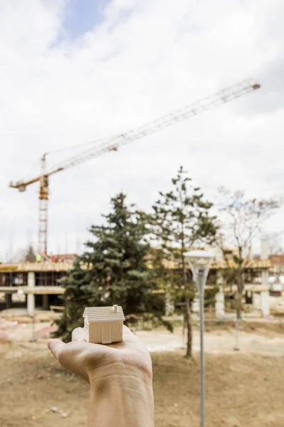
<svg viewBox="0 0 284 427">
<path fill-rule="evenodd" d="M 88 427 L 153 427 L 152 376 L 113 362 L 89 371 Z"/>
</svg>

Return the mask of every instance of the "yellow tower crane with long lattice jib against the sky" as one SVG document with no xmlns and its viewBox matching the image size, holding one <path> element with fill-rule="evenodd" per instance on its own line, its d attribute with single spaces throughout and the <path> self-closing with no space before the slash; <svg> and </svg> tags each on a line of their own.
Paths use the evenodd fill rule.
<svg viewBox="0 0 284 427">
<path fill-rule="evenodd" d="M 40 184 L 40 214 L 39 214 L 39 228 L 38 228 L 38 253 L 43 255 L 43 258 L 47 258 L 48 253 L 48 181 L 51 175 L 62 172 L 70 167 L 74 167 L 77 164 L 87 162 L 89 159 L 93 159 L 101 154 L 106 152 L 116 151 L 119 147 L 124 144 L 129 144 L 130 142 L 136 141 L 143 137 L 147 137 L 155 132 L 163 130 L 165 127 L 174 125 L 175 123 L 182 122 L 182 120 L 189 119 L 195 115 L 198 115 L 206 110 L 211 110 L 214 107 L 222 105 L 225 102 L 251 93 L 253 90 L 260 88 L 261 85 L 256 83 L 254 80 L 244 80 L 241 83 L 232 85 L 229 88 L 221 90 L 214 95 L 205 97 L 198 102 L 194 102 L 185 107 L 181 107 L 174 112 L 163 115 L 149 122 L 146 125 L 138 126 L 128 132 L 121 133 L 114 137 L 109 137 L 104 139 L 100 144 L 91 144 L 88 149 L 84 149 L 80 154 L 76 156 L 69 157 L 65 162 L 61 162 L 54 167 L 51 167 L 50 170 L 46 168 L 46 154 L 43 154 L 43 157 L 40 159 L 40 175 L 35 176 L 33 179 L 28 181 L 17 181 L 11 182 L 10 187 L 18 189 L 19 191 L 26 191 L 26 187 L 35 182 Z"/>
</svg>

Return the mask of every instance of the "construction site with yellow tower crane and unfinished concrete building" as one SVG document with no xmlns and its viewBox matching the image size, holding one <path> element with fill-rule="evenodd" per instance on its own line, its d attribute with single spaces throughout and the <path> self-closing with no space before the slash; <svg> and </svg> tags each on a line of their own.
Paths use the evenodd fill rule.
<svg viewBox="0 0 284 427">
<path fill-rule="evenodd" d="M 60 279 L 67 271 L 72 269 L 75 254 L 48 255 L 48 203 L 49 203 L 49 179 L 51 176 L 75 167 L 94 157 L 107 152 L 116 152 L 124 144 L 135 142 L 143 137 L 148 137 L 155 132 L 175 125 L 183 120 L 191 119 L 214 107 L 219 107 L 226 102 L 231 102 L 238 97 L 247 95 L 261 88 L 261 85 L 253 80 L 244 80 L 241 83 L 221 90 L 214 95 L 205 97 L 199 102 L 182 107 L 158 120 L 147 123 L 141 127 L 125 132 L 115 137 L 102 139 L 100 141 L 84 144 L 79 154 L 67 158 L 60 164 L 47 167 L 47 155 L 43 154 L 40 159 L 40 175 L 28 180 L 11 181 L 9 186 L 18 191 L 26 191 L 31 184 L 39 183 L 39 225 L 38 225 L 38 251 L 35 262 L 23 263 L 1 263 L 0 264 L 0 308 L 1 310 L 21 309 L 27 315 L 33 317 L 36 310 L 62 310 L 64 307 L 64 288 L 60 285 Z M 80 146 L 78 146 L 80 147 Z M 234 297 L 234 286 L 226 288 L 224 276 L 226 270 L 234 268 L 234 248 L 220 252 L 213 248 L 214 262 L 210 268 L 210 275 L 219 285 L 219 293 L 216 295 L 215 309 L 219 316 L 226 315 L 226 300 Z M 261 257 L 255 259 L 251 256 L 245 268 L 244 302 L 249 311 L 258 312 L 259 315 L 268 317 L 271 310 L 282 310 L 283 283 L 278 272 L 278 280 L 270 282 L 275 273 L 277 261 L 269 258 L 268 242 L 264 241 L 261 246 Z M 178 265 L 168 264 L 171 270 L 178 271 Z M 167 315 L 165 303 L 165 315 Z"/>
</svg>

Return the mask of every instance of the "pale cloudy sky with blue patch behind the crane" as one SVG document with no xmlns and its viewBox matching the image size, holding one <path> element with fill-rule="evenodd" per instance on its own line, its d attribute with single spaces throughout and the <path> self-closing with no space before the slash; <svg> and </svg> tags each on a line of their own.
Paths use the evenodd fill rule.
<svg viewBox="0 0 284 427">
<path fill-rule="evenodd" d="M 182 164 L 219 186 L 282 196 L 282 0 L 0 0 L 0 257 L 37 242 L 39 172 L 244 78 L 261 90 L 50 178 L 49 251 L 77 250 L 124 190 L 149 209 Z M 284 209 L 266 225 L 282 231 Z"/>
</svg>

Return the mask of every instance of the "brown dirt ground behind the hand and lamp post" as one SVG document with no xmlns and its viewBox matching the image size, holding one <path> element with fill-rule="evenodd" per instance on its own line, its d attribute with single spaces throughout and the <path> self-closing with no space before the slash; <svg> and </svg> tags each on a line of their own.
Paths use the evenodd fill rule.
<svg viewBox="0 0 284 427">
<path fill-rule="evenodd" d="M 207 337 L 219 344 L 218 352 L 206 354 L 206 426 L 283 427 L 284 352 L 222 353 L 222 342 L 234 336 L 226 328 L 207 328 Z M 141 338 L 168 336 L 161 331 L 147 333 L 141 332 Z M 241 342 L 251 334 L 260 342 L 266 339 L 268 347 L 284 348 L 283 325 L 246 325 Z M 220 337 L 223 341 L 218 341 Z M 197 353 L 187 360 L 184 350 L 177 348 L 153 352 L 152 359 L 155 427 L 199 426 Z M 45 339 L 3 340 L 0 360 L 1 427 L 86 426 L 87 384 L 60 367 Z"/>
</svg>

